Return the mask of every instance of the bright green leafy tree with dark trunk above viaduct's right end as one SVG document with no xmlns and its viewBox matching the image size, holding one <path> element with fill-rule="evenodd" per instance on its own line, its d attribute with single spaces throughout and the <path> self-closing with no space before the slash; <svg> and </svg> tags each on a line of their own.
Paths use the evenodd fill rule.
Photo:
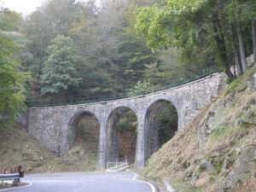
<svg viewBox="0 0 256 192">
<path fill-rule="evenodd" d="M 182 55 L 189 58 L 195 56 L 189 53 L 193 53 L 198 45 L 210 50 L 209 53 L 215 52 L 215 58 L 218 58 L 216 62 L 224 66 L 224 72 L 232 80 L 235 76 L 230 72 L 232 60 L 226 27 L 229 23 L 224 19 L 227 16 L 225 7 L 230 2 L 166 0 L 161 7 L 154 5 L 139 9 L 136 29 L 147 39 L 148 46 L 154 49 L 177 46 L 182 50 Z"/>
</svg>

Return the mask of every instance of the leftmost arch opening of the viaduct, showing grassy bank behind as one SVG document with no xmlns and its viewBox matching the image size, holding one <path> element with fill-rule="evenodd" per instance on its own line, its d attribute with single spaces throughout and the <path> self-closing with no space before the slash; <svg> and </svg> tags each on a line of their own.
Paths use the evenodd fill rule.
<svg viewBox="0 0 256 192">
<path fill-rule="evenodd" d="M 74 155 L 83 160 L 86 171 L 95 169 L 99 134 L 99 120 L 95 114 L 87 111 L 76 113 L 68 124 L 67 155 Z"/>
</svg>

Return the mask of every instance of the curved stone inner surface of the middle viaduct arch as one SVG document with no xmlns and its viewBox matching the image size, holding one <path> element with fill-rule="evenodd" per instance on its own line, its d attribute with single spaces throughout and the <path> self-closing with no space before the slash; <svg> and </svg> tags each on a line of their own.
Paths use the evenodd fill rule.
<svg viewBox="0 0 256 192">
<path fill-rule="evenodd" d="M 106 140 L 105 140 L 105 160 L 114 161 L 119 158 L 119 138 L 118 138 L 118 124 L 119 119 L 123 114 L 132 112 L 137 119 L 137 113 L 130 107 L 119 106 L 114 108 L 108 115 L 106 123 Z"/>
</svg>

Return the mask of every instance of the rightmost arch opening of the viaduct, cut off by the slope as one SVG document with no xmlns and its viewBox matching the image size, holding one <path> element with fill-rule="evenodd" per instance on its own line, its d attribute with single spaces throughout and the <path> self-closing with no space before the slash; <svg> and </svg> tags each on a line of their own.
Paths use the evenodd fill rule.
<svg viewBox="0 0 256 192">
<path fill-rule="evenodd" d="M 158 100 L 150 105 L 145 116 L 145 160 L 174 136 L 177 121 L 172 102 Z"/>
</svg>

